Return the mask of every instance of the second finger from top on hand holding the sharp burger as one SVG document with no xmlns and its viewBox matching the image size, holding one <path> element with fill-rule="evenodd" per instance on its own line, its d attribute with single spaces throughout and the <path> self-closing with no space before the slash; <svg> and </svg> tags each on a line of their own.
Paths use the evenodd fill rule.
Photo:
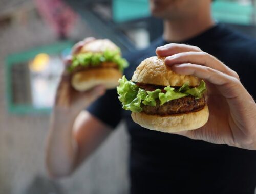
<svg viewBox="0 0 256 194">
<path fill-rule="evenodd" d="M 239 79 L 238 74 L 236 74 L 233 70 L 224 65 L 216 57 L 205 52 L 190 51 L 185 53 L 178 53 L 166 57 L 165 59 L 165 64 L 168 66 L 183 63 L 192 63 L 207 66 Z"/>
</svg>

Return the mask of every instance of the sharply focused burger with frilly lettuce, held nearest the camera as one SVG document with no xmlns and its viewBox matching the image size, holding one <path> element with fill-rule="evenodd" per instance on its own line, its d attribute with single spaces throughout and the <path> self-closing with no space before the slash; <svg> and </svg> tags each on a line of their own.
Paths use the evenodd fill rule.
<svg viewBox="0 0 256 194">
<path fill-rule="evenodd" d="M 209 117 L 205 82 L 176 74 L 164 59 L 147 58 L 131 81 L 125 76 L 119 80 L 117 93 L 123 109 L 132 111 L 135 123 L 151 130 L 172 133 L 202 127 Z"/>
</svg>

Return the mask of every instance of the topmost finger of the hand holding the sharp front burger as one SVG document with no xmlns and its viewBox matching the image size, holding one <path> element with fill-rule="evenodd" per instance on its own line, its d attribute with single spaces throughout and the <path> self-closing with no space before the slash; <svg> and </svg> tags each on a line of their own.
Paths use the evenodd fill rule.
<svg viewBox="0 0 256 194">
<path fill-rule="evenodd" d="M 190 46 L 186 44 L 166 44 L 164 46 L 160 46 L 156 49 L 156 54 L 159 57 L 166 57 L 170 55 L 174 55 L 177 53 L 184 53 L 184 52 L 201 52 L 202 50 L 197 46 Z"/>
</svg>

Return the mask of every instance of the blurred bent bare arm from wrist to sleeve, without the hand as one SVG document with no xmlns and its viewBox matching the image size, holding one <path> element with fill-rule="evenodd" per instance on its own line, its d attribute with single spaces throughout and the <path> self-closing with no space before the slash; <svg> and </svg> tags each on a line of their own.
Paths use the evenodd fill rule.
<svg viewBox="0 0 256 194">
<path fill-rule="evenodd" d="M 46 164 L 51 177 L 68 176 L 108 136 L 111 129 L 82 111 L 77 118 L 56 109 L 51 118 Z"/>
</svg>

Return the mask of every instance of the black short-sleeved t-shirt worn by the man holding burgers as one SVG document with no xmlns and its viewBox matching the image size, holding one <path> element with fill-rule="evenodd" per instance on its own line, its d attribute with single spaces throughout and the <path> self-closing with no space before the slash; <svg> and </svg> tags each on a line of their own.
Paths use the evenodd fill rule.
<svg viewBox="0 0 256 194">
<path fill-rule="evenodd" d="M 131 79 L 143 59 L 156 55 L 156 47 L 167 43 L 159 38 L 145 50 L 127 54 L 126 78 Z M 256 97 L 255 40 L 219 24 L 183 43 L 200 47 L 237 71 Z M 106 92 L 88 110 L 113 128 L 125 120 L 131 136 L 131 193 L 254 193 L 256 151 L 144 129 L 121 108 L 116 90 Z"/>
</svg>

